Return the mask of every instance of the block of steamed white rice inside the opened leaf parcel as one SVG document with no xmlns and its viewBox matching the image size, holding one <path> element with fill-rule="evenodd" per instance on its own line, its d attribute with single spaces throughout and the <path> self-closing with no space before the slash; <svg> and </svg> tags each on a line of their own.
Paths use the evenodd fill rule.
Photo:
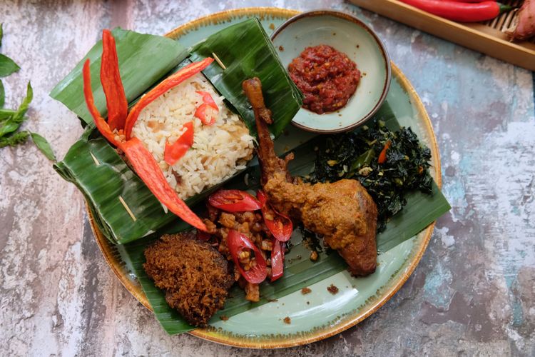
<svg viewBox="0 0 535 357">
<path fill-rule="evenodd" d="M 214 124 L 205 125 L 193 116 L 203 104 L 203 96 L 195 91 L 210 93 L 218 105 Z M 149 104 L 133 126 L 132 136 L 143 141 L 180 198 L 194 196 L 245 169 L 253 157 L 253 137 L 238 116 L 223 104 L 223 99 L 203 74 L 197 74 Z M 194 123 L 193 146 L 170 166 L 163 159 L 165 141 L 173 144 L 188 121 Z"/>
</svg>

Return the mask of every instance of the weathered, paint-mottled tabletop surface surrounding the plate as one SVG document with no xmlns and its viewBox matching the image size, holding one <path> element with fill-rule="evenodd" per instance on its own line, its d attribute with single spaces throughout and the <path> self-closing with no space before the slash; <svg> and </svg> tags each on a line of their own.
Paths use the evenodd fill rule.
<svg viewBox="0 0 535 357">
<path fill-rule="evenodd" d="M 108 269 L 82 196 L 32 144 L 0 149 L 0 355 L 535 356 L 535 118 L 532 73 L 340 0 L 1 1 L 1 51 L 22 70 L 7 105 L 35 89 L 28 129 L 63 157 L 81 134 L 51 88 L 101 29 L 163 34 L 245 6 L 352 11 L 371 24 L 432 117 L 452 211 L 409 281 L 366 321 L 285 351 L 167 336 Z"/>
</svg>

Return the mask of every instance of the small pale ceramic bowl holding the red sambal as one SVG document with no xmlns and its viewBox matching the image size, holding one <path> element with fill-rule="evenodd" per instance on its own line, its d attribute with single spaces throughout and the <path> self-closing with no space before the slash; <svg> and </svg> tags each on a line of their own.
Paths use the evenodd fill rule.
<svg viewBox="0 0 535 357">
<path fill-rule="evenodd" d="M 370 119 L 387 97 L 390 59 L 377 34 L 359 19 L 339 11 L 303 12 L 282 24 L 271 36 L 282 64 L 288 64 L 310 46 L 327 44 L 357 64 L 361 79 L 350 101 L 337 111 L 297 112 L 292 124 L 307 131 L 334 134 L 354 129 Z"/>
</svg>

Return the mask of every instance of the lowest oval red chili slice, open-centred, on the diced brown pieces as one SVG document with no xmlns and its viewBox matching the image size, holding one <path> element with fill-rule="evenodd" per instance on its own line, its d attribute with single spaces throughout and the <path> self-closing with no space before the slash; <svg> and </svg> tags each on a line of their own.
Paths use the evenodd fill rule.
<svg viewBox="0 0 535 357">
<path fill-rule="evenodd" d="M 258 284 L 265 280 L 267 276 L 265 258 L 260 253 L 260 249 L 245 234 L 230 229 L 227 236 L 227 246 L 230 255 L 233 257 L 235 266 L 238 267 L 238 271 L 240 271 L 240 274 L 246 281 Z M 251 249 L 255 252 L 256 265 L 251 266 L 248 271 L 245 271 L 240 263 L 240 253 L 245 251 L 245 249 Z"/>
</svg>

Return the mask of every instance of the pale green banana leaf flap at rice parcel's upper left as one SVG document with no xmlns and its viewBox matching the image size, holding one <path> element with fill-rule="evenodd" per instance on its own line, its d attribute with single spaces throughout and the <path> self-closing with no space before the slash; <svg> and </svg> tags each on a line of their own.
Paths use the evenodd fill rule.
<svg viewBox="0 0 535 357">
<path fill-rule="evenodd" d="M 116 40 L 119 71 L 128 103 L 141 96 L 188 56 L 188 51 L 180 43 L 163 36 L 138 34 L 120 28 L 113 29 L 112 34 Z M 65 104 L 86 124 L 93 122 L 83 98 L 81 74 L 86 59 L 91 61 L 91 87 L 95 105 L 103 118 L 108 113 L 100 79 L 101 55 L 102 41 L 98 41 L 50 93 L 52 98 Z"/>
</svg>

